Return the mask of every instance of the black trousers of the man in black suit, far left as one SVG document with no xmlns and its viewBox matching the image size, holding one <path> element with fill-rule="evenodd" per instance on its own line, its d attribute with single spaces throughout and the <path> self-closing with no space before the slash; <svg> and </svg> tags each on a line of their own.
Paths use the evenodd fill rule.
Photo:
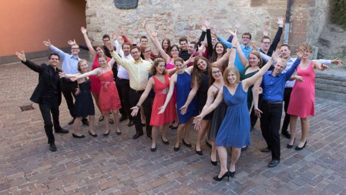
<svg viewBox="0 0 346 195">
<path fill-rule="evenodd" d="M 38 105 L 44 121 L 44 130 L 46 131 L 48 143 L 53 143 L 55 141 L 53 135 L 53 126 L 56 131 L 61 129 L 59 124 L 59 98 L 58 96 L 43 97 L 41 103 Z M 51 120 L 51 113 L 53 123 Z"/>
</svg>

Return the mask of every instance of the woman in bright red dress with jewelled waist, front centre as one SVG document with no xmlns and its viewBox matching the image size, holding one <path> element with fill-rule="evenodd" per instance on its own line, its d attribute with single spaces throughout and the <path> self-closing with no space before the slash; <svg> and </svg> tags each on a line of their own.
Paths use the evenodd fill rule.
<svg viewBox="0 0 346 195">
<path fill-rule="evenodd" d="M 164 144 L 169 144 L 169 141 L 167 140 L 167 129 L 170 125 L 170 122 L 172 122 L 175 119 L 175 106 L 174 102 L 171 100 L 168 103 L 168 109 L 165 110 L 164 113 L 158 114 L 160 111 L 160 107 L 164 104 L 165 99 L 168 94 L 168 89 L 170 86 L 170 80 L 167 76 L 167 74 L 173 73 L 175 69 L 171 69 L 169 72 L 166 73 L 165 68 L 165 60 L 162 58 L 157 58 L 153 62 L 153 66 L 150 70 L 150 74 L 152 77 L 149 79 L 147 87 L 142 94 L 141 98 L 139 99 L 136 106 L 132 107 L 132 116 L 136 116 L 138 110 L 140 109 L 142 103 L 144 100 L 148 97 L 151 89 L 154 89 L 155 92 L 155 98 L 152 108 L 152 114 L 150 118 L 150 126 L 153 126 L 152 129 L 152 145 L 150 150 L 152 152 L 156 151 L 157 148 L 157 136 L 159 134 L 159 128 L 162 126 L 162 136 L 161 139 L 164 142 Z"/>
</svg>

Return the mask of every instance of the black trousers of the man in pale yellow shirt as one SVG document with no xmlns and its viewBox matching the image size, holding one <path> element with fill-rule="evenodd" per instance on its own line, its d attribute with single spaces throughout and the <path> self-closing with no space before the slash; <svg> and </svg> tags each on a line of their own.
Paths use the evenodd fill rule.
<svg viewBox="0 0 346 195">
<path fill-rule="evenodd" d="M 136 106 L 139 98 L 141 98 L 144 91 L 135 91 L 130 88 L 129 96 L 130 96 L 130 106 Z M 151 136 L 152 126 L 150 126 L 150 117 L 151 117 L 151 110 L 152 110 L 152 104 L 151 104 L 151 98 L 148 96 L 148 98 L 143 102 L 142 106 L 144 108 L 144 114 L 145 114 L 145 122 L 146 122 L 146 131 L 147 135 Z M 137 115 L 133 117 L 133 121 L 135 123 L 135 128 L 137 133 L 143 132 L 142 122 L 141 122 L 141 112 L 138 111 Z"/>
</svg>

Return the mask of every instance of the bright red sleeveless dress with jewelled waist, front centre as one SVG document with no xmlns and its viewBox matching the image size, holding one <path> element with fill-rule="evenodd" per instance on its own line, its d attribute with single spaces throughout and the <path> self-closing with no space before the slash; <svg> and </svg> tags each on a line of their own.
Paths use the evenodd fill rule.
<svg viewBox="0 0 346 195">
<path fill-rule="evenodd" d="M 155 92 L 155 98 L 153 102 L 152 114 L 150 117 L 150 126 L 161 126 L 168 122 L 175 120 L 175 105 L 173 99 L 168 102 L 165 112 L 158 114 L 160 107 L 164 105 L 166 97 L 170 88 L 170 80 L 167 75 L 165 75 L 165 84 L 158 80 L 155 76 L 152 77 L 155 81 L 155 86 L 153 87 Z"/>
</svg>

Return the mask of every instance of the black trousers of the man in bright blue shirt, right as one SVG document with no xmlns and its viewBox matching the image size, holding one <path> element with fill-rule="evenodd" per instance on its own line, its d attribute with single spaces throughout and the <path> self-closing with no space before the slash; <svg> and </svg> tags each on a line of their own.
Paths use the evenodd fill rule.
<svg viewBox="0 0 346 195">
<path fill-rule="evenodd" d="M 263 138 L 271 150 L 271 159 L 280 160 L 280 122 L 282 115 L 282 103 L 268 104 L 262 101 L 260 110 L 263 112 L 260 117 L 260 129 Z"/>
</svg>

